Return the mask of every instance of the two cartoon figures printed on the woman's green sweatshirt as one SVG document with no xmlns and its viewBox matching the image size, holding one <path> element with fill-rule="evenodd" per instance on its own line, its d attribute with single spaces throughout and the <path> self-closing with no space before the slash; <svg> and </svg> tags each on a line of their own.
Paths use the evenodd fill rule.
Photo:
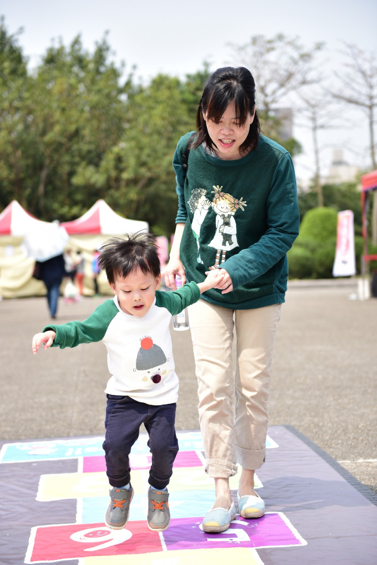
<svg viewBox="0 0 377 565">
<path fill-rule="evenodd" d="M 206 190 L 197 188 L 192 191 L 188 201 L 191 212 L 194 214 L 192 231 L 198 246 L 198 263 L 202 263 L 200 257 L 200 228 L 211 207 L 215 212 L 215 234 L 207 247 L 216 250 L 215 262 L 207 267 L 209 270 L 218 269 L 226 259 L 227 251 L 239 247 L 237 242 L 237 226 L 234 219 L 236 211 L 241 208 L 244 211 L 246 201 L 241 197 L 237 199 L 231 194 L 224 192 L 222 186 L 213 186 L 211 194 L 214 194 L 212 202 L 206 198 Z"/>
</svg>

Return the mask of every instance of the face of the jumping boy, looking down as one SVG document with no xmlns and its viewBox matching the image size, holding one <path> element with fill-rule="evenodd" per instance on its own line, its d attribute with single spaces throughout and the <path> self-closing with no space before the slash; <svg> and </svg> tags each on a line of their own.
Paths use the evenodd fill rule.
<svg viewBox="0 0 377 565">
<path fill-rule="evenodd" d="M 131 316 L 144 316 L 153 304 L 156 290 L 161 282 L 161 275 L 155 277 L 145 274 L 140 269 L 128 273 L 127 277 L 117 277 L 110 284 L 112 292 L 118 296 L 120 308 Z"/>
</svg>

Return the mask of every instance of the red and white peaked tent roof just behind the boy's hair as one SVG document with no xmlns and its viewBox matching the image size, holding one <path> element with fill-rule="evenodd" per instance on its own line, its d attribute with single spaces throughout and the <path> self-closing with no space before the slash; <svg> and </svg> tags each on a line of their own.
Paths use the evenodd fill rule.
<svg viewBox="0 0 377 565">
<path fill-rule="evenodd" d="M 117 236 L 124 233 L 148 231 L 146 221 L 128 220 L 116 214 L 104 200 L 95 204 L 81 218 L 61 224 L 70 236 L 78 234 Z"/>
</svg>

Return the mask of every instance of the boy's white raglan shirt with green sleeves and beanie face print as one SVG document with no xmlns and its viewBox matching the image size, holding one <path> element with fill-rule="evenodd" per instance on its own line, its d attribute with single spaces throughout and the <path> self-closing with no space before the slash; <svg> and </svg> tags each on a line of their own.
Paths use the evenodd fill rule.
<svg viewBox="0 0 377 565">
<path fill-rule="evenodd" d="M 189 282 L 174 292 L 156 291 L 153 305 L 144 316 L 132 316 L 121 310 L 118 297 L 103 302 L 84 321 L 47 325 L 56 337 L 52 346 L 76 347 L 103 341 L 111 377 L 107 394 L 129 396 L 154 406 L 171 404 L 178 398 L 170 335 L 171 316 L 197 302 L 200 290 Z"/>
</svg>

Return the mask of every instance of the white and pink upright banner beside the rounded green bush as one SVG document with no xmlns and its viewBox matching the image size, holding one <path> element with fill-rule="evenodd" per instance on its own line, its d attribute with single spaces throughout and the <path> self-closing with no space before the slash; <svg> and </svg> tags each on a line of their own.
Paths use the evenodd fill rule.
<svg viewBox="0 0 377 565">
<path fill-rule="evenodd" d="M 346 277 L 356 274 L 353 211 L 338 212 L 336 252 L 332 276 Z"/>
</svg>

